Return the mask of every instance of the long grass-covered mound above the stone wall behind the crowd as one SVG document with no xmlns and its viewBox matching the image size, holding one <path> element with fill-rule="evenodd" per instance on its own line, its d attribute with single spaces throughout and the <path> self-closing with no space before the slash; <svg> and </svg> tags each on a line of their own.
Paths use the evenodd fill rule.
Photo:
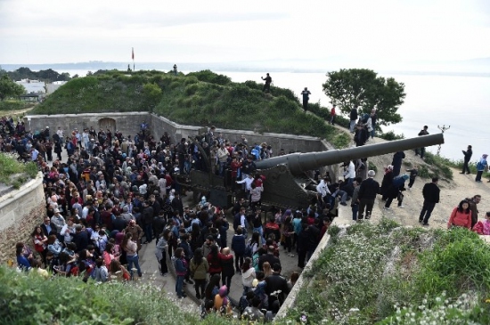
<svg viewBox="0 0 490 325">
<path fill-rule="evenodd" d="M 346 135 L 323 118 L 305 114 L 289 89 L 273 86 L 271 92 L 262 93 L 262 85 L 256 82 L 233 83 L 209 70 L 178 76 L 154 70 L 131 75 L 113 70 L 69 81 L 30 113 L 150 111 L 192 126 L 303 134 L 338 142 L 339 147 L 347 145 Z"/>
</svg>

